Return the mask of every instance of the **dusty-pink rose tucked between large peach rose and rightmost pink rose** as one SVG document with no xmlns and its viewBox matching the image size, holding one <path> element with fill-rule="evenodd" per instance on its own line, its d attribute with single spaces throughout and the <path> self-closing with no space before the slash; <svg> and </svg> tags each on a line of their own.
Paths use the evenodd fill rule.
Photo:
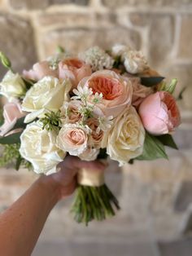
<svg viewBox="0 0 192 256">
<path fill-rule="evenodd" d="M 133 86 L 132 105 L 137 108 L 148 95 L 153 93 L 153 90 L 151 87 L 142 86 L 138 77 L 129 77 L 129 80 Z"/>
</svg>

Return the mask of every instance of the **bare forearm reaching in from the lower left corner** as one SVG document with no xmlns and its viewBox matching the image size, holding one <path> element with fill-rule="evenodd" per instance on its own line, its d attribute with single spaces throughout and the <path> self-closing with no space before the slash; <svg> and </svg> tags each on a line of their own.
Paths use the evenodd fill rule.
<svg viewBox="0 0 192 256">
<path fill-rule="evenodd" d="M 59 200 L 55 183 L 41 177 L 0 215 L 0 251 L 2 255 L 31 255 L 50 210 Z"/>
</svg>

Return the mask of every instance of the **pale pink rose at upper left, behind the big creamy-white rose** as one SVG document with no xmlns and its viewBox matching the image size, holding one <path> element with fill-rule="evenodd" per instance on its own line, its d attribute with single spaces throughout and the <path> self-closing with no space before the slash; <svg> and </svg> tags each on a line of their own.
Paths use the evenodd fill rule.
<svg viewBox="0 0 192 256">
<path fill-rule="evenodd" d="M 32 79 L 35 81 L 41 80 L 41 78 L 50 76 L 50 77 L 58 77 L 58 70 L 50 68 L 50 63 L 47 60 L 38 62 L 33 65 L 33 69 L 24 70 L 24 77 L 28 79 Z"/>
</svg>

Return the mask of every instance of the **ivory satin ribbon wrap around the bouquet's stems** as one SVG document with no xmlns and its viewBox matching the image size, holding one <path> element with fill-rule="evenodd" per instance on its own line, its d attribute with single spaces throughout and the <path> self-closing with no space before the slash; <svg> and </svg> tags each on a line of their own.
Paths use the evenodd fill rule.
<svg viewBox="0 0 192 256">
<path fill-rule="evenodd" d="M 83 168 L 77 174 L 77 182 L 83 186 L 100 187 L 105 183 L 104 172 Z"/>
</svg>

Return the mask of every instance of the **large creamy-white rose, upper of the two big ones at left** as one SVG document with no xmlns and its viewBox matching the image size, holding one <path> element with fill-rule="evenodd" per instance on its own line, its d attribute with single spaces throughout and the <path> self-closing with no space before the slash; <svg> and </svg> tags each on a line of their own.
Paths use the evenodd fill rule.
<svg viewBox="0 0 192 256">
<path fill-rule="evenodd" d="M 59 82 L 55 77 L 43 77 L 31 87 L 24 97 L 22 109 L 30 112 L 25 122 L 33 121 L 36 117 L 43 117 L 47 109 L 58 111 L 64 101 L 68 101 L 71 83 L 68 80 Z"/>
</svg>

